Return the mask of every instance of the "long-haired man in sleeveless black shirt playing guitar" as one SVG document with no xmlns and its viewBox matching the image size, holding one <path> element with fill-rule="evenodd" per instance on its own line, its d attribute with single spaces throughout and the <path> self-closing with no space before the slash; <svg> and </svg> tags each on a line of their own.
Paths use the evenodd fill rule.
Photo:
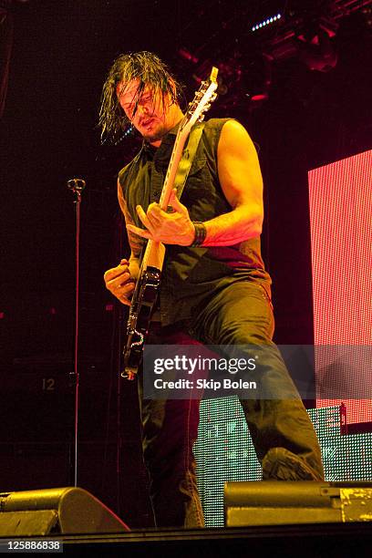
<svg viewBox="0 0 372 558">
<path fill-rule="evenodd" d="M 100 124 L 115 135 L 131 124 L 143 138 L 139 154 L 119 172 L 118 196 L 131 255 L 109 269 L 109 291 L 130 305 L 146 239 L 166 246 L 150 344 L 264 346 L 262 377 L 277 398 L 241 399 L 263 480 L 322 480 L 315 430 L 272 341 L 269 274 L 260 250 L 263 181 L 253 141 L 234 119 L 210 119 L 202 130 L 182 202 L 172 212 L 160 190 L 177 126 L 181 88 L 159 57 L 121 55 L 103 88 Z M 199 401 L 141 397 L 144 459 L 160 527 L 203 525 L 192 446 Z M 275 391 L 276 389 L 276 391 Z"/>
</svg>

